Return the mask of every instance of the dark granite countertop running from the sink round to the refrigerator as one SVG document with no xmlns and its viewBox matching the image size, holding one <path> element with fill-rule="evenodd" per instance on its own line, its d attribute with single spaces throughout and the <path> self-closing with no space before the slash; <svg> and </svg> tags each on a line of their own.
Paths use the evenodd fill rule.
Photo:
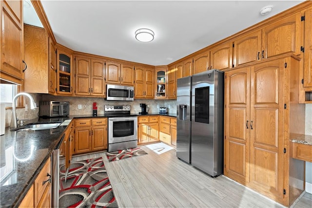
<svg viewBox="0 0 312 208">
<path fill-rule="evenodd" d="M 175 117 L 176 114 L 149 113 Z M 133 113 L 127 116 L 141 116 Z M 63 118 L 37 118 L 24 123 L 59 122 L 72 119 L 108 118 L 100 114 L 97 117 L 90 115 L 72 115 Z M 116 117 L 116 116 L 114 116 Z M 122 116 L 124 117 L 124 116 Z M 65 124 L 65 123 L 64 123 Z M 28 189 L 34 183 L 45 162 L 50 158 L 52 151 L 61 142 L 61 136 L 67 125 L 47 130 L 37 131 L 10 131 L 6 127 L 5 134 L 0 136 L 0 207 L 18 207 Z"/>
</svg>

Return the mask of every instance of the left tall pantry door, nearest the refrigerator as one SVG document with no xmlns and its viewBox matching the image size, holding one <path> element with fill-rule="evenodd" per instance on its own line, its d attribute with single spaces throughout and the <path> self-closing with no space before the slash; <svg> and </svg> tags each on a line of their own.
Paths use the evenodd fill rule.
<svg viewBox="0 0 312 208">
<path fill-rule="evenodd" d="M 249 182 L 250 67 L 225 73 L 224 175 Z"/>
</svg>

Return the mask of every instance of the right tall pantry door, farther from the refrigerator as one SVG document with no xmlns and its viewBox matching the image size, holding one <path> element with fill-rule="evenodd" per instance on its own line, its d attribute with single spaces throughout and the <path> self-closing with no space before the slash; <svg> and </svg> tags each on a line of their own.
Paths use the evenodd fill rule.
<svg viewBox="0 0 312 208">
<path fill-rule="evenodd" d="M 284 60 L 251 68 L 250 186 L 283 198 Z"/>
</svg>

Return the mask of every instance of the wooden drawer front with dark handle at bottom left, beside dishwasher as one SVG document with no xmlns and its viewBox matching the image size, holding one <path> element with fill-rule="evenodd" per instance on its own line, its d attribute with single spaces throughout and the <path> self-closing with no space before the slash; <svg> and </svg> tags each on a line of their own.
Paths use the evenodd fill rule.
<svg viewBox="0 0 312 208">
<path fill-rule="evenodd" d="M 48 176 L 48 174 L 50 176 Z M 39 201 L 42 197 L 42 194 L 45 190 L 45 188 L 47 187 L 47 185 L 50 183 L 45 182 L 46 180 L 51 180 L 51 160 L 48 160 L 47 163 L 43 166 L 41 172 L 39 173 L 38 177 L 36 178 L 35 182 L 34 182 L 34 187 L 35 187 L 35 199 L 34 199 L 34 203 L 35 203 L 35 207 L 38 206 Z M 44 183 L 45 182 L 45 183 Z"/>
</svg>

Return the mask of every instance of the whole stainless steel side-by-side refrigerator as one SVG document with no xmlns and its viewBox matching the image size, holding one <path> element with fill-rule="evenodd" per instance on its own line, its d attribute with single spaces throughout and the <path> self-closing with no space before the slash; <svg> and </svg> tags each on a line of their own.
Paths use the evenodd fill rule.
<svg viewBox="0 0 312 208">
<path fill-rule="evenodd" d="M 176 156 L 211 176 L 223 173 L 224 73 L 177 80 Z"/>
</svg>

